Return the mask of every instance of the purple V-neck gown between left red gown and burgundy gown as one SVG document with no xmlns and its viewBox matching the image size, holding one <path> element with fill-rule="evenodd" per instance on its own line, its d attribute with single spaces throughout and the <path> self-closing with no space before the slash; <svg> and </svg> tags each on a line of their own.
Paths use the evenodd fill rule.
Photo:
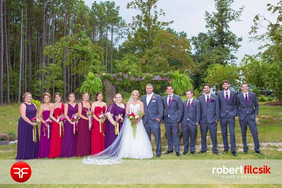
<svg viewBox="0 0 282 188">
<path fill-rule="evenodd" d="M 73 114 L 77 113 L 78 104 L 72 105 L 68 104 L 68 117 L 71 118 Z M 64 136 L 62 143 L 62 150 L 60 157 L 72 157 L 75 155 L 75 143 L 76 143 L 76 135 L 73 134 L 73 124 L 70 124 L 68 120 L 64 125 Z"/>
</svg>

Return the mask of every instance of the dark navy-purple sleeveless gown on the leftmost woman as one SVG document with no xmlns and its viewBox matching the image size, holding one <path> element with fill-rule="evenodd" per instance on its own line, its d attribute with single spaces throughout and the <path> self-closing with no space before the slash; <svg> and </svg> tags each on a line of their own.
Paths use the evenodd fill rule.
<svg viewBox="0 0 282 188">
<path fill-rule="evenodd" d="M 34 104 L 26 105 L 26 117 L 30 120 L 36 117 L 36 107 Z M 36 126 L 36 143 L 33 141 L 33 125 L 27 123 L 22 117 L 18 123 L 18 149 L 16 160 L 34 159 L 38 155 L 39 136 L 38 128 Z"/>
</svg>

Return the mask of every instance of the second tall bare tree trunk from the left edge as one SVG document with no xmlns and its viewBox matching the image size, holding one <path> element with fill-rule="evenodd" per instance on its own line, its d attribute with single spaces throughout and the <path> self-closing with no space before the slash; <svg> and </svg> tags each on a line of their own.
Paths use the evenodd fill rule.
<svg viewBox="0 0 282 188">
<path fill-rule="evenodd" d="M 7 76 L 7 105 L 10 105 L 10 81 L 9 81 L 9 53 L 7 39 L 7 21 L 6 21 L 6 0 L 4 0 L 4 36 L 5 36 L 5 61 L 6 61 L 6 76 Z"/>
</svg>

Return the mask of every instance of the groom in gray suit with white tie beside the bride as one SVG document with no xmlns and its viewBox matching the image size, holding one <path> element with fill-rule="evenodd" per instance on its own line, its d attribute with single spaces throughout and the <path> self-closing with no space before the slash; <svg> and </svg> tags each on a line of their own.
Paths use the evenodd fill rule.
<svg viewBox="0 0 282 188">
<path fill-rule="evenodd" d="M 162 104 L 162 97 L 153 93 L 153 85 L 146 85 L 146 95 L 141 97 L 141 101 L 144 103 L 143 124 L 148 137 L 151 141 L 151 131 L 155 137 L 156 142 L 156 154 L 157 157 L 161 156 L 161 128 L 160 121 L 164 115 L 164 106 Z"/>
</svg>

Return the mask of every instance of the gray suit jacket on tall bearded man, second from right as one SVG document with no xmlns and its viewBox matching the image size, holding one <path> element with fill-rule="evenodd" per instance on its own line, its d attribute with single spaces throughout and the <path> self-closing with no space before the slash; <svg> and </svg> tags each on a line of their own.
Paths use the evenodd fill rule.
<svg viewBox="0 0 282 188">
<path fill-rule="evenodd" d="M 226 114 L 229 114 L 231 117 L 235 118 L 237 115 L 237 107 L 236 107 L 236 91 L 230 90 L 230 97 L 228 100 L 228 103 L 226 103 L 226 93 L 223 91 L 219 91 L 217 93 L 219 104 L 220 104 L 220 118 L 223 118 L 226 116 Z"/>
</svg>

